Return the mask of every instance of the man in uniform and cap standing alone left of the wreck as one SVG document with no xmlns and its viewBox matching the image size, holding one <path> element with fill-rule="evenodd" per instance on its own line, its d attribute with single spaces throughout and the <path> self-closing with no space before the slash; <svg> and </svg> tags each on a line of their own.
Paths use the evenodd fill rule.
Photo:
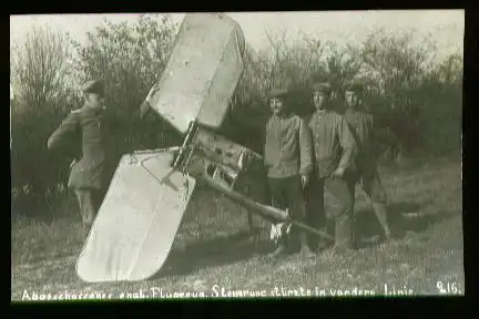
<svg viewBox="0 0 479 319">
<path fill-rule="evenodd" d="M 65 143 L 65 138 L 75 134 L 82 141 L 81 158 L 73 161 L 71 165 L 68 186 L 74 189 L 86 231 L 94 222 L 104 193 L 103 94 L 102 80 L 85 83 L 83 106 L 72 111 L 48 140 L 50 150 Z"/>
</svg>

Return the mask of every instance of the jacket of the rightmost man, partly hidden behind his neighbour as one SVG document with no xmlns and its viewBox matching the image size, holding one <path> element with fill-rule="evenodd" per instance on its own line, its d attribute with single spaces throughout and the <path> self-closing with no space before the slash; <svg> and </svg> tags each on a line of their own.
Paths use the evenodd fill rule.
<svg viewBox="0 0 479 319">
<path fill-rule="evenodd" d="M 376 161 L 373 115 L 348 109 L 344 116 L 358 144 L 357 169 L 360 172 L 374 171 Z"/>
</svg>

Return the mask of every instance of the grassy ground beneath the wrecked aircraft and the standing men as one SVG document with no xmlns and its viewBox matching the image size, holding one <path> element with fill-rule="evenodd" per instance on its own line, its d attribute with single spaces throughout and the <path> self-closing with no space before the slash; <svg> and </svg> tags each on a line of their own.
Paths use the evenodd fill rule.
<svg viewBox="0 0 479 319">
<path fill-rule="evenodd" d="M 313 259 L 293 255 L 273 260 L 267 256 L 274 247 L 266 222 L 255 219 L 259 230 L 252 235 L 241 207 L 198 191 L 163 269 L 151 280 L 134 284 L 90 285 L 77 277 L 75 260 L 83 244 L 79 214 L 51 222 L 16 218 L 11 297 L 463 294 L 460 163 L 435 160 L 415 168 L 384 168 L 381 177 L 391 226 L 402 234 L 393 243 L 345 254 L 325 250 Z M 74 202 L 70 205 L 77 209 Z M 357 192 L 356 212 L 363 236 L 379 234 L 361 192 Z"/>
</svg>

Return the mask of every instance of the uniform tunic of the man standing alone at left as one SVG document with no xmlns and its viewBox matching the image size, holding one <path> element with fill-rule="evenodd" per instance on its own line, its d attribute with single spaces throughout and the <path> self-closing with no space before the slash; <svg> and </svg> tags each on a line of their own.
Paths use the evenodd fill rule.
<svg viewBox="0 0 479 319">
<path fill-rule="evenodd" d="M 102 110 L 83 106 L 71 112 L 50 136 L 48 147 L 53 148 L 72 133 L 81 135 L 82 155 L 71 167 L 69 187 L 100 189 L 104 186 L 103 130 Z"/>
</svg>

